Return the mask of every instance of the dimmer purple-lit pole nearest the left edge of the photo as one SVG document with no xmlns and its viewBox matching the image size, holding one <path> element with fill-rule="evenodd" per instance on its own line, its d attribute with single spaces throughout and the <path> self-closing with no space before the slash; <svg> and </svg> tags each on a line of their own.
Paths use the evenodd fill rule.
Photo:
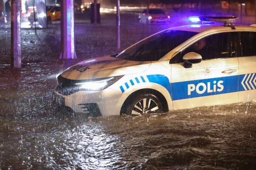
<svg viewBox="0 0 256 170">
<path fill-rule="evenodd" d="M 11 1 L 11 67 L 21 68 L 20 0 Z"/>
</svg>

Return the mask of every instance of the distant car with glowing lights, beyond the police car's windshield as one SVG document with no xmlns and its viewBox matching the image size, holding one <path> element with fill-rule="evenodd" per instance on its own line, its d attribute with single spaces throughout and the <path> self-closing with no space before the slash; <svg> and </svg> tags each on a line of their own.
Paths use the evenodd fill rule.
<svg viewBox="0 0 256 170">
<path fill-rule="evenodd" d="M 149 23 L 149 24 L 161 24 L 170 22 L 170 16 L 165 14 L 165 12 L 161 9 L 149 9 L 142 11 L 139 14 L 141 23 Z"/>
</svg>

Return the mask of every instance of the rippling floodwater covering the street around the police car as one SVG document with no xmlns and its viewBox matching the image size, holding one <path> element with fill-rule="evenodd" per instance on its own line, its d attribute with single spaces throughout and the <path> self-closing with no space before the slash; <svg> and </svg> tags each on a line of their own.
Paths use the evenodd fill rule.
<svg viewBox="0 0 256 170">
<path fill-rule="evenodd" d="M 118 52 L 114 38 L 102 42 L 96 40 L 98 34 L 94 34 L 96 38 L 79 34 L 92 31 L 93 26 L 84 30 L 78 24 L 76 28 L 80 55 L 89 49 L 96 56 L 109 55 L 108 50 Z M 104 36 L 112 29 L 102 24 L 96 30 L 101 28 L 106 31 Z M 152 34 L 154 28 L 150 28 Z M 130 31 L 123 34 L 124 47 L 138 38 L 139 31 Z M 10 32 L 0 30 L 1 170 L 255 169 L 254 101 L 136 117 L 67 112 L 51 104 L 50 93 L 57 85 L 56 76 L 78 60 L 56 59 L 60 50 L 58 28 L 38 30 L 38 35 L 32 34 L 33 30 L 22 32 L 22 69 L 10 69 L 10 49 L 5 48 L 10 46 Z M 104 45 L 109 48 L 100 50 Z"/>
</svg>

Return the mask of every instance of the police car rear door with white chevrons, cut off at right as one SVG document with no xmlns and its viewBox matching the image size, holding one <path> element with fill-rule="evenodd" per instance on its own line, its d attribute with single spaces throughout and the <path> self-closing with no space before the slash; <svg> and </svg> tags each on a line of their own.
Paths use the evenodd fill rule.
<svg viewBox="0 0 256 170">
<path fill-rule="evenodd" d="M 235 30 L 238 44 L 238 102 L 256 100 L 256 32 Z"/>
</svg>

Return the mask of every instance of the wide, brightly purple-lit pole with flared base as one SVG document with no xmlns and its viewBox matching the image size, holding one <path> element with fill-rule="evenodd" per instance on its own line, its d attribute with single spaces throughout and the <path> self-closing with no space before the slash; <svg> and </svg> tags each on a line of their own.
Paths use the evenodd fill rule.
<svg viewBox="0 0 256 170">
<path fill-rule="evenodd" d="M 61 0 L 60 59 L 77 59 L 74 37 L 74 0 Z"/>
</svg>

